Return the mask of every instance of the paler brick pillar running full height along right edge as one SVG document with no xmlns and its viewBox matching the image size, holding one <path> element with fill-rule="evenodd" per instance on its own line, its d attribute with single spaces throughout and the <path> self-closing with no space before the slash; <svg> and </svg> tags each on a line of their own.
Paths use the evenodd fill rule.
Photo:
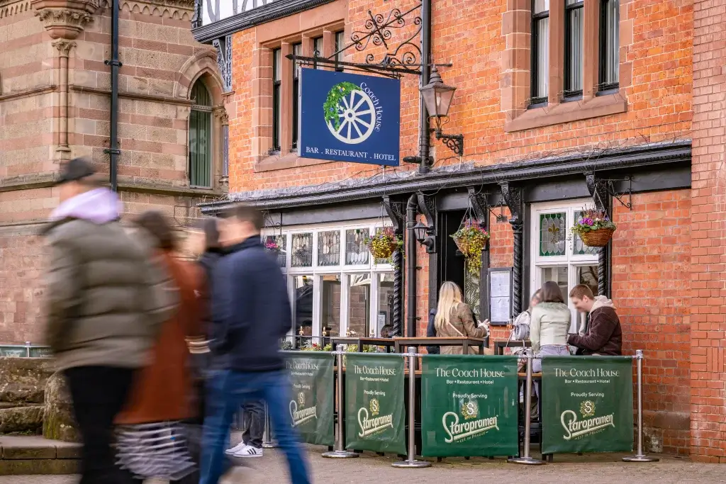
<svg viewBox="0 0 726 484">
<path fill-rule="evenodd" d="M 693 2 L 691 457 L 726 463 L 726 0 Z"/>
</svg>

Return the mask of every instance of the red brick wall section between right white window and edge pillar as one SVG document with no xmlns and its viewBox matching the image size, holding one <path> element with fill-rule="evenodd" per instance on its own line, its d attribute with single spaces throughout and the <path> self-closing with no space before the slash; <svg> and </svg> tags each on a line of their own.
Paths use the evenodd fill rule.
<svg viewBox="0 0 726 484">
<path fill-rule="evenodd" d="M 650 451 L 688 456 L 690 435 L 690 190 L 613 200 L 612 298 L 624 354 L 645 351 L 643 415 Z"/>
</svg>

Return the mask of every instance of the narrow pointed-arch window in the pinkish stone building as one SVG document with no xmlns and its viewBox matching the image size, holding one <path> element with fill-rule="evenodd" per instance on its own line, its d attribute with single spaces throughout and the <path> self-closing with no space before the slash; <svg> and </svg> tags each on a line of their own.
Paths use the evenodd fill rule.
<svg viewBox="0 0 726 484">
<path fill-rule="evenodd" d="M 189 185 L 212 186 L 212 108 L 211 94 L 202 79 L 192 86 L 194 102 L 189 113 Z"/>
</svg>

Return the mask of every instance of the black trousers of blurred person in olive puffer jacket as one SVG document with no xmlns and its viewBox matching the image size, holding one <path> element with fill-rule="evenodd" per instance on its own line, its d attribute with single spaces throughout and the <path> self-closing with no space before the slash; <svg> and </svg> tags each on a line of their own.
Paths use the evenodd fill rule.
<svg viewBox="0 0 726 484">
<path fill-rule="evenodd" d="M 80 484 L 121 484 L 115 465 L 113 419 L 126 403 L 134 370 L 78 366 L 65 370 L 83 451 Z"/>
</svg>

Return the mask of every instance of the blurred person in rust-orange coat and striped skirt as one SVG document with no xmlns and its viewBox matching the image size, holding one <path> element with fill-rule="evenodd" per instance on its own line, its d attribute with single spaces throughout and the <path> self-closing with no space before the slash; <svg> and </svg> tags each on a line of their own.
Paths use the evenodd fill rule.
<svg viewBox="0 0 726 484">
<path fill-rule="evenodd" d="M 169 446 L 187 440 L 181 422 L 197 411 L 192 404 L 193 382 L 186 340 L 202 335 L 197 295 L 202 290 L 203 274 L 195 264 L 176 257 L 174 229 L 161 213 L 143 213 L 136 218 L 136 224 L 151 237 L 179 287 L 180 304 L 162 324 L 152 348 L 151 364 L 136 374 L 129 401 L 115 419 L 121 426 L 119 462 L 129 477 L 139 483 L 151 477 L 172 483 L 197 483 L 199 475 L 188 448 L 179 445 L 169 452 Z"/>
</svg>

